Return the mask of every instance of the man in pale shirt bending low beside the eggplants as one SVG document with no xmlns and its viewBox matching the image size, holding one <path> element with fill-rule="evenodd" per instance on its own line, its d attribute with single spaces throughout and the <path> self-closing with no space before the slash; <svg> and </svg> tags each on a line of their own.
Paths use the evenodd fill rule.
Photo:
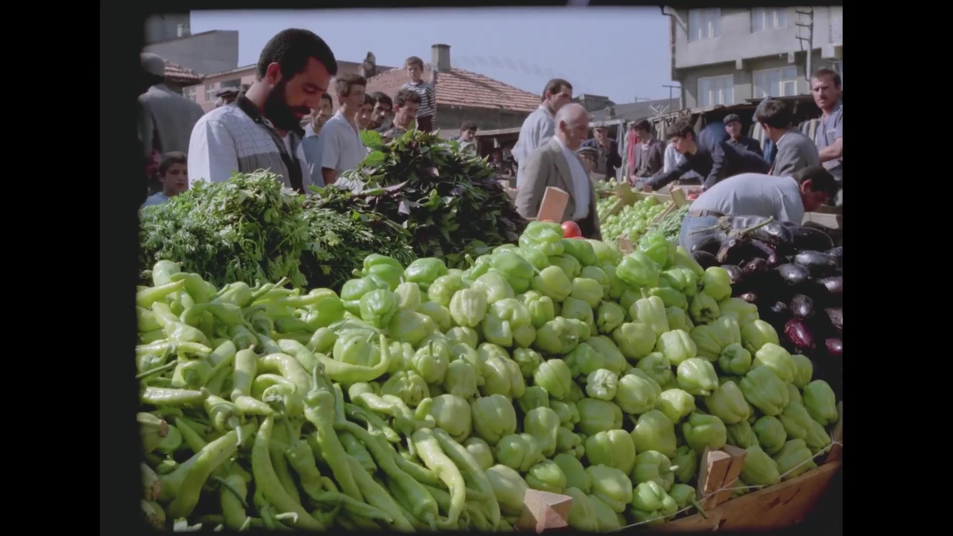
<svg viewBox="0 0 953 536">
<path fill-rule="evenodd" d="M 821 166 L 801 168 L 791 176 L 746 173 L 730 176 L 696 199 L 681 221 L 679 245 L 688 251 L 700 229 L 712 227 L 720 216 L 774 216 L 801 224 L 805 212 L 817 210 L 837 194 L 834 177 Z"/>
</svg>

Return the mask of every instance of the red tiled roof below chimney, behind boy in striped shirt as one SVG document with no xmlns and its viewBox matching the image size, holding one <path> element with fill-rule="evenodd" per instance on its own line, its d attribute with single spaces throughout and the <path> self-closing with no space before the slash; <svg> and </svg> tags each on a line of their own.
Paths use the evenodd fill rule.
<svg viewBox="0 0 953 536">
<path fill-rule="evenodd" d="M 433 80 L 430 64 L 424 65 L 421 78 Z M 402 69 L 383 72 L 368 80 L 367 92 L 383 92 L 394 97 L 401 86 L 409 81 L 407 72 Z M 476 72 L 452 68 L 450 72 L 437 73 L 436 105 L 532 112 L 539 106 L 539 95 Z"/>
</svg>

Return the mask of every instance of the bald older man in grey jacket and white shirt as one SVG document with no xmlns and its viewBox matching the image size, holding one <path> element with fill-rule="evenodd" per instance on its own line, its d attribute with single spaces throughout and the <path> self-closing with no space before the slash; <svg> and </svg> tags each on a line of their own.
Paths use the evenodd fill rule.
<svg viewBox="0 0 953 536">
<path fill-rule="evenodd" d="M 517 212 L 536 217 L 547 186 L 569 194 L 562 221 L 575 221 L 582 236 L 599 239 L 596 189 L 576 151 L 589 131 L 589 114 L 578 104 L 559 108 L 553 119 L 555 135 L 529 155 L 517 192 Z"/>
</svg>

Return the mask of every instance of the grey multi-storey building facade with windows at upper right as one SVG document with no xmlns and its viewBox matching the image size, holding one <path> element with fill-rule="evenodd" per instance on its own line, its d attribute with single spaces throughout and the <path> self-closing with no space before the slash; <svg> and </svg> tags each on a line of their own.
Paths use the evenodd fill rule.
<svg viewBox="0 0 953 536">
<path fill-rule="evenodd" d="M 663 12 L 685 108 L 807 94 L 822 67 L 843 76 L 841 6 Z"/>
</svg>

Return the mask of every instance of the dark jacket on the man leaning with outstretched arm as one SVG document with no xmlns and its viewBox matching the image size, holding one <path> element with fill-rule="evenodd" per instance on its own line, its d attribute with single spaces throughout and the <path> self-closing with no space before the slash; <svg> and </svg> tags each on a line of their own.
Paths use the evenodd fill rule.
<svg viewBox="0 0 953 536">
<path fill-rule="evenodd" d="M 764 158 L 750 151 L 736 149 L 725 141 L 716 143 L 711 150 L 702 144 L 698 145 L 698 152 L 695 155 L 684 155 L 684 162 L 676 169 L 653 176 L 646 180 L 644 184 L 651 186 L 653 190 L 659 190 L 666 184 L 672 182 L 693 171 L 706 177 L 704 181 L 705 190 L 715 186 L 721 179 L 742 173 L 760 173 L 767 175 L 768 163 Z"/>
</svg>

